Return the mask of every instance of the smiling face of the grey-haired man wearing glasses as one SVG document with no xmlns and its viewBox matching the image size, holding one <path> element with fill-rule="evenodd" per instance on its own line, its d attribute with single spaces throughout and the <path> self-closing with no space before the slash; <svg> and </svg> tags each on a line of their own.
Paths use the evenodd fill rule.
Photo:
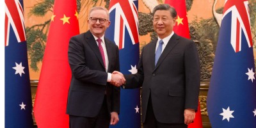
<svg viewBox="0 0 256 128">
<path fill-rule="evenodd" d="M 93 10 L 90 13 L 90 17 L 97 18 L 97 19 L 106 19 L 103 24 L 100 24 L 99 20 L 97 22 L 92 22 L 91 19 L 88 19 L 89 29 L 93 35 L 100 38 L 104 35 L 106 29 L 109 27 L 109 17 L 105 10 Z"/>
</svg>

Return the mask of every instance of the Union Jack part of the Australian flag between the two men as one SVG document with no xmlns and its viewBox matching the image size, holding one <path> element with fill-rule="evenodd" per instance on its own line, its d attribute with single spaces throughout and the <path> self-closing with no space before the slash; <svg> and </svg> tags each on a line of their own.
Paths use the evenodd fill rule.
<svg viewBox="0 0 256 128">
<path fill-rule="evenodd" d="M 112 0 L 109 4 L 109 13 L 115 13 L 115 17 L 110 17 L 110 20 L 115 25 L 114 41 L 119 49 L 124 49 L 125 28 L 131 36 L 132 44 L 137 44 L 139 42 L 138 8 L 133 1 Z"/>
</svg>

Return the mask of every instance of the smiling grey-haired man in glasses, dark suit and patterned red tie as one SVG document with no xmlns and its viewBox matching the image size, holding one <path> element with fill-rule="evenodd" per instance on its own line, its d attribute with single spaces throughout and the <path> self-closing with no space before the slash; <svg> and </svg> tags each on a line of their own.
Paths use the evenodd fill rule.
<svg viewBox="0 0 256 128">
<path fill-rule="evenodd" d="M 104 38 L 109 13 L 97 6 L 89 15 L 90 30 L 73 36 L 68 47 L 72 70 L 67 103 L 70 128 L 104 128 L 119 121 L 120 88 L 109 82 L 124 80 L 109 73 L 119 70 L 118 47 Z"/>
</svg>

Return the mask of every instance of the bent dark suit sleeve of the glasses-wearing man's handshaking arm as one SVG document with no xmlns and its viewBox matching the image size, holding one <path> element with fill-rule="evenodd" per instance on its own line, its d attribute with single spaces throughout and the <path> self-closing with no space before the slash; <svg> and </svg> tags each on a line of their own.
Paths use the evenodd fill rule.
<svg viewBox="0 0 256 128">
<path fill-rule="evenodd" d="M 108 79 L 107 72 L 91 70 L 86 66 L 86 58 L 84 56 L 85 53 L 82 42 L 84 42 L 84 40 L 77 36 L 72 37 L 69 41 L 68 62 L 72 70 L 72 75 L 79 81 L 106 85 Z"/>
</svg>

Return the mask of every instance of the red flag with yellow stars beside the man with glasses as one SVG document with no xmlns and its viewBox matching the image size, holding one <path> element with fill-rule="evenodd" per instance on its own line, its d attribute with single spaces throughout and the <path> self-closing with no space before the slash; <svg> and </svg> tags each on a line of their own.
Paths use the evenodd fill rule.
<svg viewBox="0 0 256 128">
<path fill-rule="evenodd" d="M 38 127 L 68 127 L 66 114 L 71 70 L 68 42 L 79 34 L 77 5 L 74 0 L 55 0 L 44 60 L 35 99 Z"/>
</svg>

